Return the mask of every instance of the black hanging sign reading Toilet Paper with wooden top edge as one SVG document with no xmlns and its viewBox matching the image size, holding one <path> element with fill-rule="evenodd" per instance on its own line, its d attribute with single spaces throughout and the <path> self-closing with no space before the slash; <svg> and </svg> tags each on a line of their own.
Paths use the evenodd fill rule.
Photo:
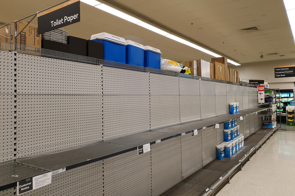
<svg viewBox="0 0 295 196">
<path fill-rule="evenodd" d="M 71 4 L 69 4 L 69 2 Z M 66 4 L 67 3 L 67 4 Z M 38 16 L 38 33 L 42 34 L 80 21 L 80 1 L 72 0 L 44 11 Z"/>
</svg>

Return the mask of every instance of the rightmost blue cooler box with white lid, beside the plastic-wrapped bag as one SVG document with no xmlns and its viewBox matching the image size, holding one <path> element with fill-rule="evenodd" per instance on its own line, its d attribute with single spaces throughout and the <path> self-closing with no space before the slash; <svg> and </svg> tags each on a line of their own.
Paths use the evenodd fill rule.
<svg viewBox="0 0 295 196">
<path fill-rule="evenodd" d="M 161 51 L 157 48 L 150 46 L 144 46 L 145 50 L 145 59 L 144 66 L 154 69 L 161 69 Z"/>
</svg>

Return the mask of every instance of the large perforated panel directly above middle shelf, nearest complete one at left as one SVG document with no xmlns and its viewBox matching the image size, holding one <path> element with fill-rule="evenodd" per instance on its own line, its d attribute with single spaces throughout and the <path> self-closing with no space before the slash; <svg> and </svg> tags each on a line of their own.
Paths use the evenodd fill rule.
<svg viewBox="0 0 295 196">
<path fill-rule="evenodd" d="M 99 140 L 101 95 L 17 95 L 17 157 Z"/>
</svg>

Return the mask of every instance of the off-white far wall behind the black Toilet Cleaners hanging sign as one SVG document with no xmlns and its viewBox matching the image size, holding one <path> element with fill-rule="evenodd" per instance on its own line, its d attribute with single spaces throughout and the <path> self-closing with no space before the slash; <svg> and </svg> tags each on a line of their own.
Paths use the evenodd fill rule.
<svg viewBox="0 0 295 196">
<path fill-rule="evenodd" d="M 228 68 L 239 71 L 241 81 L 247 81 L 249 79 L 265 79 L 265 82 L 272 84 L 270 85 L 270 88 L 294 89 L 295 77 L 275 78 L 274 67 L 290 65 L 295 65 L 294 58 L 276 61 L 242 63 L 240 66 L 228 65 Z"/>
</svg>

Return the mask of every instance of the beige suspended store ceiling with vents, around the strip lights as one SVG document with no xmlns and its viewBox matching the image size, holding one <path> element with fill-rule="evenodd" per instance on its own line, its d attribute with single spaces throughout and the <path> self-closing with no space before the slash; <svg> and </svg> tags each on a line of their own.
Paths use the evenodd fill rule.
<svg viewBox="0 0 295 196">
<path fill-rule="evenodd" d="M 63 0 L 1 1 L 0 23 L 22 19 L 60 2 Z M 239 63 L 295 58 L 294 38 L 283 0 L 107 2 Z M 212 57 L 83 2 L 80 14 L 80 22 L 64 27 L 68 35 L 90 39 L 93 34 L 107 32 L 158 48 L 163 58 L 180 62 L 198 58 L 210 61 Z M 37 24 L 37 19 L 32 23 Z M 257 27 L 258 31 L 240 31 L 249 27 Z M 260 53 L 264 54 L 263 59 Z M 267 53 L 278 54 L 266 56 Z"/>
</svg>

